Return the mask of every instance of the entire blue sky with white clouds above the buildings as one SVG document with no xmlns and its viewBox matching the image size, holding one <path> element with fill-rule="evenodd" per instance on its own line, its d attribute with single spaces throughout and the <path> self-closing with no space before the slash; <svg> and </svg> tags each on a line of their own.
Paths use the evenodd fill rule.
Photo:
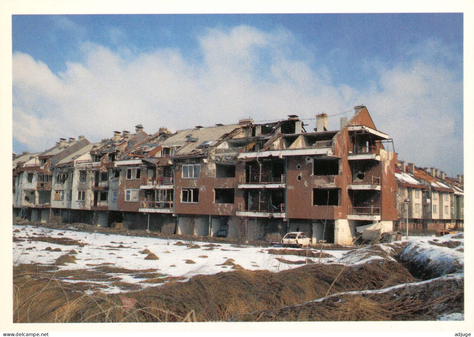
<svg viewBox="0 0 474 337">
<path fill-rule="evenodd" d="M 365 104 L 401 160 L 463 173 L 459 13 L 14 15 L 12 52 L 14 152 Z"/>
</svg>

